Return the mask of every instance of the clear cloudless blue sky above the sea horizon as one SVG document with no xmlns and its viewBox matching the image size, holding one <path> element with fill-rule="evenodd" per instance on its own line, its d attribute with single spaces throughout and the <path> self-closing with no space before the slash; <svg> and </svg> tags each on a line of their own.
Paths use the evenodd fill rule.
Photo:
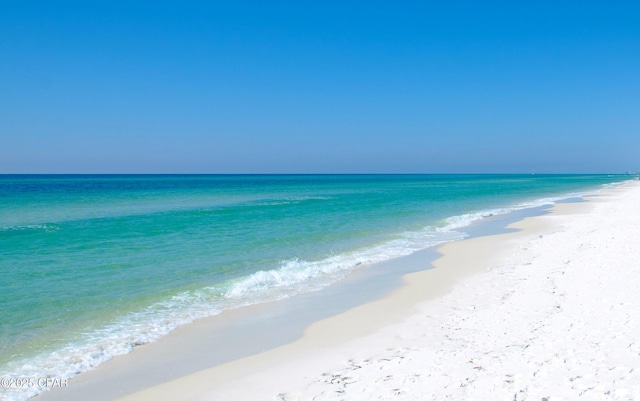
<svg viewBox="0 0 640 401">
<path fill-rule="evenodd" d="M 625 170 L 637 1 L 0 0 L 0 173 Z"/>
</svg>

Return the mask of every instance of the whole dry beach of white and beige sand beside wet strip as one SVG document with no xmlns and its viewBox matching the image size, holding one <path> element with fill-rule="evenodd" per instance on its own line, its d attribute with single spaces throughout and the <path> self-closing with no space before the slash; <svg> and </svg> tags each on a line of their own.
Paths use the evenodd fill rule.
<svg viewBox="0 0 640 401">
<path fill-rule="evenodd" d="M 640 399 L 640 183 L 586 199 L 446 244 L 298 341 L 120 401 Z"/>
</svg>

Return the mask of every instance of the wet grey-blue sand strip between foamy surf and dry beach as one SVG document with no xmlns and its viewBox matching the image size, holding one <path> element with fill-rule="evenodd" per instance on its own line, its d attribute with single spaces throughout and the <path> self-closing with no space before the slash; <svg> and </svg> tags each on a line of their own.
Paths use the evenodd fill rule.
<svg viewBox="0 0 640 401">
<path fill-rule="evenodd" d="M 541 215 L 548 209 L 549 206 L 535 206 L 496 215 L 474 223 L 466 231 L 471 236 L 506 232 L 505 226 L 509 222 Z M 321 291 L 230 309 L 196 320 L 156 342 L 136 347 L 131 353 L 81 373 L 70 379 L 68 388 L 54 388 L 32 399 L 68 401 L 91 397 L 113 400 L 123 394 L 293 343 L 315 322 L 384 298 L 404 285 L 406 274 L 431 269 L 432 262 L 439 257 L 437 249 L 437 246 L 427 248 L 369 265 Z M 377 324 L 376 327 L 383 325 L 380 320 L 372 323 Z M 211 341 L 212 338 L 215 341 Z M 136 380 L 131 380 L 134 376 Z"/>
</svg>

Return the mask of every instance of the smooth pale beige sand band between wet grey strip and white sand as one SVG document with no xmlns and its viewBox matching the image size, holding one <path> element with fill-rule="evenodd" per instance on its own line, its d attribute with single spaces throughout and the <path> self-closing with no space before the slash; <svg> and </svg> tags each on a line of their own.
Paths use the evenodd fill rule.
<svg viewBox="0 0 640 401">
<path fill-rule="evenodd" d="M 632 187 L 635 185 L 629 183 L 624 184 L 622 187 L 627 186 Z M 618 188 L 609 189 L 605 194 L 620 190 L 621 189 Z M 380 337 L 379 333 L 388 332 L 390 327 L 402 325 L 403 323 L 401 322 L 407 319 L 411 320 L 416 310 L 420 310 L 419 305 L 425 302 L 429 303 L 429 300 L 433 303 L 435 300 L 445 297 L 450 293 L 451 288 L 456 288 L 460 282 L 464 282 L 470 277 L 487 270 L 488 267 L 480 263 L 479 266 L 475 266 L 475 268 L 472 269 L 463 268 L 461 271 L 454 271 L 451 266 L 468 265 L 465 261 L 452 260 L 456 258 L 455 255 L 465 254 L 465 252 L 455 251 L 456 247 L 469 246 L 469 244 L 475 243 L 475 258 L 480 258 L 488 263 L 490 260 L 494 260 L 497 255 L 504 253 L 504 248 L 509 247 L 508 242 L 522 242 L 526 240 L 525 237 L 527 236 L 539 235 L 539 232 L 546 233 L 550 228 L 545 226 L 546 223 L 540 226 L 541 219 L 558 214 L 567 215 L 567 213 L 576 213 L 576 210 L 588 209 L 591 206 L 590 202 L 576 204 L 556 203 L 551 215 L 525 218 L 520 223 L 510 226 L 518 228 L 520 231 L 474 237 L 441 245 L 437 249 L 441 251 L 444 256 L 435 261 L 434 265 L 436 269 L 421 273 L 411 273 L 405 276 L 404 284 L 391 294 L 349 309 L 347 312 L 341 313 L 338 316 L 314 323 L 305 330 L 302 339 L 293 340 L 293 342 L 266 352 L 256 353 L 233 362 L 224 363 L 220 366 L 187 374 L 177 380 L 167 380 L 163 384 L 142 390 L 141 392 L 130 395 L 122 394 L 125 396 L 122 400 L 198 399 L 199 397 L 206 399 L 207 395 L 214 398 L 224 395 L 224 397 L 236 397 L 236 399 L 252 399 L 254 397 L 266 399 L 264 396 L 275 397 L 277 393 L 271 393 L 276 391 L 276 388 L 286 388 L 291 381 L 291 375 L 301 370 L 299 369 L 300 366 L 313 365 L 310 369 L 304 369 L 305 372 L 314 371 L 317 373 L 331 370 L 331 365 L 335 365 L 335 362 L 340 361 L 338 356 L 346 355 L 359 349 L 370 350 L 375 348 L 371 345 L 363 346 L 363 344 L 368 341 L 374 341 L 370 340 L 370 338 L 376 337 L 376 335 Z M 451 251 L 452 249 L 453 251 Z M 483 253 L 483 255 L 479 255 L 477 249 L 483 250 L 480 252 Z M 447 259 L 449 259 L 449 262 L 446 262 Z M 429 290 L 425 291 L 424 289 L 427 287 L 429 287 Z M 425 292 L 427 292 L 428 295 L 425 295 Z M 243 311 L 238 311 L 238 313 L 242 315 Z M 244 313 L 247 312 L 244 311 Z M 382 320 L 380 319 L 381 316 L 383 317 Z M 195 324 L 198 324 L 198 322 Z M 380 343 L 380 338 L 374 342 L 376 341 Z M 389 339 L 385 341 L 389 342 L 389 346 L 393 346 L 393 341 Z M 145 347 L 147 346 L 140 347 L 140 350 L 145 349 Z M 165 348 L 167 348 L 166 344 Z M 171 350 L 167 348 L 165 352 L 171 352 Z M 140 353 L 136 350 L 136 352 L 128 355 L 133 356 L 134 354 L 136 354 L 135 356 L 139 356 Z M 135 358 L 131 359 L 135 360 Z M 138 360 L 140 359 L 138 358 Z M 274 368 L 274 366 L 276 367 Z M 269 374 L 265 375 L 263 373 L 264 370 L 269 370 Z M 280 375 L 283 376 L 271 373 L 277 370 L 283 370 L 280 372 Z M 84 373 L 79 377 L 86 377 L 88 373 L 91 372 Z M 241 379 L 239 377 L 241 377 Z M 281 381 L 284 381 L 280 383 L 280 387 L 275 385 L 278 383 L 278 377 L 282 377 L 283 379 L 281 379 Z M 266 378 L 268 378 L 268 380 Z M 306 376 L 293 380 L 293 382 L 301 383 L 304 382 L 305 378 Z M 130 377 L 129 380 L 135 380 L 135 378 Z M 248 382 L 252 383 L 250 386 L 252 391 L 251 395 L 249 396 L 244 393 L 238 394 L 238 391 L 244 391 L 245 393 L 249 391 L 246 385 Z M 255 386 L 253 385 L 254 383 Z M 92 389 L 93 391 L 100 391 L 100 387 L 96 387 L 95 383 Z M 215 391 L 215 396 L 211 393 L 212 391 Z M 53 396 L 55 393 L 56 392 L 43 393 L 35 399 L 47 400 L 50 399 L 50 395 Z M 65 391 L 57 393 L 65 398 Z M 283 397 L 281 397 L 281 399 L 297 399 L 295 396 L 286 396 L 294 398 Z"/>
</svg>

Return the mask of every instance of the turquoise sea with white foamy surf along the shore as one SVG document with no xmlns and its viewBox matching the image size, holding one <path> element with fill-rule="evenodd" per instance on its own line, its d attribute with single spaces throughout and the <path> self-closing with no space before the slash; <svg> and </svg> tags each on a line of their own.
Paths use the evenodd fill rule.
<svg viewBox="0 0 640 401">
<path fill-rule="evenodd" d="M 0 176 L 0 377 L 72 377 L 196 318 L 629 178 Z"/>
</svg>

